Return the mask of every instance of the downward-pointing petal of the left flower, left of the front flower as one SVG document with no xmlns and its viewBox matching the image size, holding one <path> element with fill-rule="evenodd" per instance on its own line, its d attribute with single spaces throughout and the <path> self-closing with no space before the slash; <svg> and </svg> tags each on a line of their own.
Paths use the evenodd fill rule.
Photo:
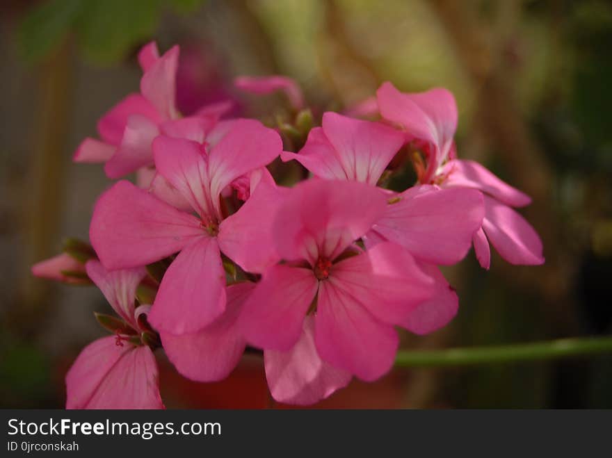
<svg viewBox="0 0 612 458">
<path fill-rule="evenodd" d="M 225 271 L 214 238 L 183 248 L 161 279 L 149 313 L 158 332 L 191 334 L 225 311 Z"/>
</svg>

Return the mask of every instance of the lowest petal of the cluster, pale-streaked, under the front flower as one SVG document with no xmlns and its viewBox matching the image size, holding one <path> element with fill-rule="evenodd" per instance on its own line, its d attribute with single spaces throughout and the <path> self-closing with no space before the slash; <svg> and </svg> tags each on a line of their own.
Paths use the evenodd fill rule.
<svg viewBox="0 0 612 458">
<path fill-rule="evenodd" d="M 319 357 L 314 345 L 314 318 L 304 319 L 303 331 L 287 352 L 264 351 L 266 379 L 277 402 L 308 405 L 328 398 L 351 382 L 351 374 Z"/>
</svg>

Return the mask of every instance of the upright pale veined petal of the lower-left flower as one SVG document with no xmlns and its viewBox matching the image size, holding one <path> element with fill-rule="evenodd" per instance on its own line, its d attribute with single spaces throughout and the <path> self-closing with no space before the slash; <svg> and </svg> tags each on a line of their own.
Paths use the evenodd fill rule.
<svg viewBox="0 0 612 458">
<path fill-rule="evenodd" d="M 136 300 L 136 288 L 146 277 L 147 270 L 141 267 L 109 272 L 100 261 L 93 259 L 87 261 L 86 269 L 88 277 L 102 291 L 113 310 L 131 327 L 138 329 L 134 316 L 134 300 Z"/>
</svg>

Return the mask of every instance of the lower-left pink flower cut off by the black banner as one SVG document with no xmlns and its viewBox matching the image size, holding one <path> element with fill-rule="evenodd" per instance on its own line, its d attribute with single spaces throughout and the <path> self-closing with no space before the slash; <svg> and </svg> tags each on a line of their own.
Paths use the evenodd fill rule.
<svg viewBox="0 0 612 458">
<path fill-rule="evenodd" d="M 139 341 L 134 309 L 145 270 L 108 272 L 98 261 L 88 261 L 86 268 L 127 323 L 126 334 L 99 338 L 81 351 L 66 375 L 66 409 L 163 409 L 155 357 Z"/>
</svg>

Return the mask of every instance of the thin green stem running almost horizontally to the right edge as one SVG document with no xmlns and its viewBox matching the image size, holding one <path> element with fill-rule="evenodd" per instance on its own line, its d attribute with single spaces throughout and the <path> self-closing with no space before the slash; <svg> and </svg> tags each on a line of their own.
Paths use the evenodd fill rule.
<svg viewBox="0 0 612 458">
<path fill-rule="evenodd" d="M 612 354 L 612 337 L 563 338 L 556 341 L 491 347 L 400 351 L 397 353 L 395 366 L 401 368 L 474 366 L 604 353 Z"/>
</svg>

